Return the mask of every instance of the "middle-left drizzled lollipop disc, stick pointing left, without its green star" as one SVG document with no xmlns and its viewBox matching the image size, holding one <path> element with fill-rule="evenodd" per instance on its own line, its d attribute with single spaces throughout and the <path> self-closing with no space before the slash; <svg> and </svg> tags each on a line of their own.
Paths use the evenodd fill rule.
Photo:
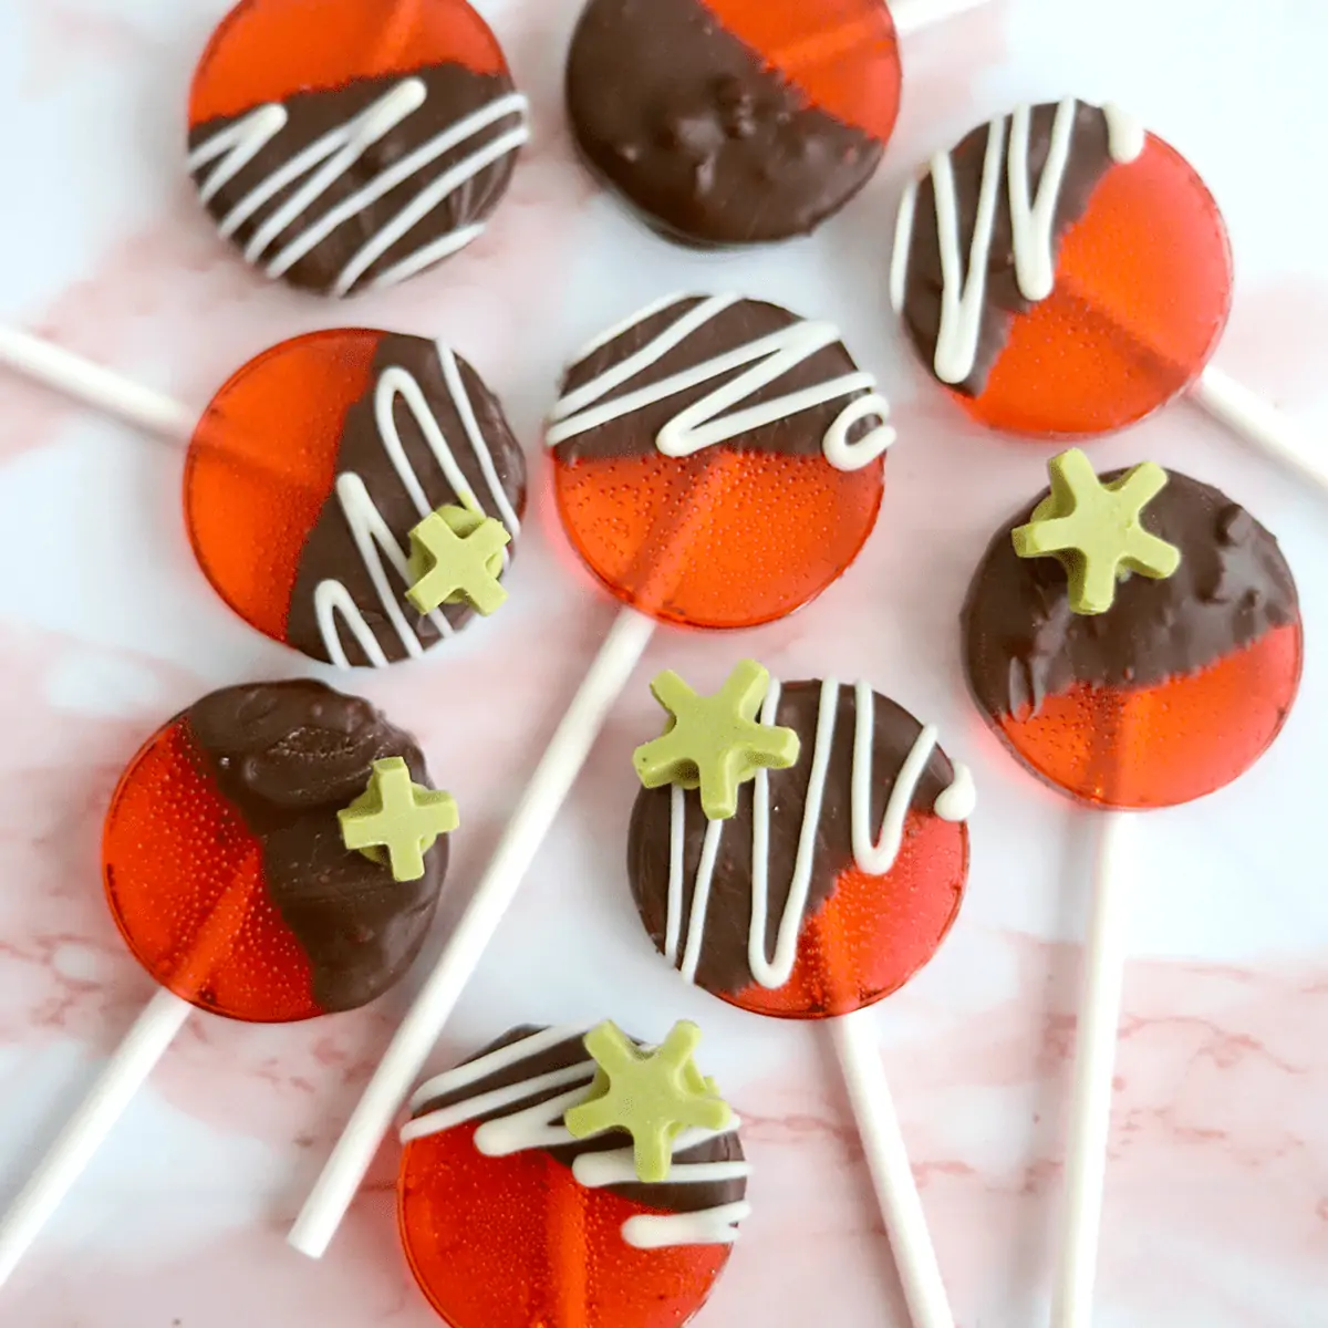
<svg viewBox="0 0 1328 1328">
<path fill-rule="evenodd" d="M 367 329 L 315 332 L 239 369 L 199 421 L 185 518 L 216 592 L 313 659 L 384 667 L 473 616 L 406 598 L 410 531 L 452 505 L 517 537 L 521 445 L 497 397 L 448 347 Z"/>
</svg>

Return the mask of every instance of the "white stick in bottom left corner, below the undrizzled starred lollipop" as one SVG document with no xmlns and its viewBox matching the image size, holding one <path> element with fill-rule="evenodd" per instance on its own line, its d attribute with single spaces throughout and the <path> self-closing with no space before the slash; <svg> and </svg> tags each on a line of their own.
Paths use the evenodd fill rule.
<svg viewBox="0 0 1328 1328">
<path fill-rule="evenodd" d="M 101 1077 L 0 1220 L 0 1286 L 142 1088 L 193 1005 L 165 987 L 143 1008 Z"/>
</svg>

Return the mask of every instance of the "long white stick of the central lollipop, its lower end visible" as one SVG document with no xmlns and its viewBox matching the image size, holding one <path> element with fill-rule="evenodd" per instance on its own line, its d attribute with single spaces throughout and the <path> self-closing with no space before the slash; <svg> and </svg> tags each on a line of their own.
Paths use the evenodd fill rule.
<svg viewBox="0 0 1328 1328">
<path fill-rule="evenodd" d="M 521 803 L 442 956 L 397 1028 L 341 1138 L 323 1167 L 287 1238 L 319 1259 L 355 1199 L 378 1145 L 420 1077 L 425 1060 L 452 1016 L 461 992 L 517 895 L 548 834 L 608 710 L 632 676 L 655 631 L 655 620 L 623 608 L 595 663 L 563 716 Z"/>
</svg>

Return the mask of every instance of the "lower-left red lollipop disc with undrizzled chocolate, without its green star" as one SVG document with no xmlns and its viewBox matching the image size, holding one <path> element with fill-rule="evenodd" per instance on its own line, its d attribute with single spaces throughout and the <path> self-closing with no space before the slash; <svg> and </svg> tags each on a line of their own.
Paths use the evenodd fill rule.
<svg viewBox="0 0 1328 1328">
<path fill-rule="evenodd" d="M 227 688 L 159 729 L 129 764 L 102 838 L 106 895 L 139 963 L 177 996 L 250 1023 L 373 1000 L 433 918 L 446 843 L 425 876 L 349 853 L 336 813 L 372 762 L 413 740 L 320 683 Z"/>
</svg>

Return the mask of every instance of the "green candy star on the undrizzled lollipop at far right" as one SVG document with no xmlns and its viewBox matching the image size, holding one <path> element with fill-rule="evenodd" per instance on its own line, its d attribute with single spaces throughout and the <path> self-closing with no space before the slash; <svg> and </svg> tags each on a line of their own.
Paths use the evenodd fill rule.
<svg viewBox="0 0 1328 1328">
<path fill-rule="evenodd" d="M 1130 572 L 1153 580 L 1175 575 L 1181 550 L 1141 523 L 1143 509 L 1167 485 L 1159 465 L 1146 461 L 1104 485 L 1088 457 L 1073 448 L 1053 457 L 1048 469 L 1050 497 L 1013 531 L 1015 552 L 1060 559 L 1076 614 L 1105 614 L 1116 602 L 1117 582 Z"/>
</svg>

